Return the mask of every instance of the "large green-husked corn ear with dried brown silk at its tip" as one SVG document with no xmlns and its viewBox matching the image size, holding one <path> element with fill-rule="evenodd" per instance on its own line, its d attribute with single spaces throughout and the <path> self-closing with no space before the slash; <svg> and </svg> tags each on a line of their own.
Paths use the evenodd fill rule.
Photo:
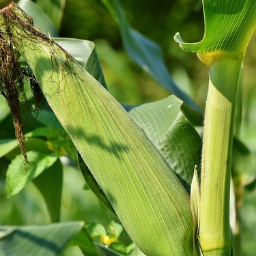
<svg viewBox="0 0 256 256">
<path fill-rule="evenodd" d="M 14 3 L 1 29 L 33 71 L 132 240 L 146 255 L 192 255 L 189 197 L 144 132 L 68 53 Z M 138 218 L 138 219 L 136 219 Z"/>
</svg>

